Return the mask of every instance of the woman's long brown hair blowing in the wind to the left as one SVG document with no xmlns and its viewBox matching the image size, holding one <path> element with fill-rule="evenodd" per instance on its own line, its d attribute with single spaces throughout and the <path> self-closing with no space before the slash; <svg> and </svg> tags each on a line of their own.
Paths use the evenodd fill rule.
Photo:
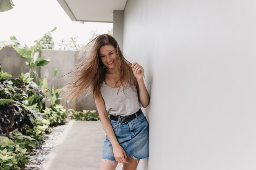
<svg viewBox="0 0 256 170">
<path fill-rule="evenodd" d="M 137 87 L 138 82 L 132 73 L 132 64 L 124 58 L 115 38 L 108 34 L 102 34 L 94 38 L 88 45 L 90 46 L 90 50 L 87 52 L 85 60 L 72 66 L 70 73 L 67 73 L 71 74 L 71 77 L 74 77 L 74 81 L 68 83 L 60 91 L 61 97 L 72 101 L 79 96 L 84 97 L 90 93 L 93 93 L 94 99 L 101 95 L 100 88 L 106 75 L 107 68 L 99 58 L 99 49 L 105 45 L 112 45 L 115 48 L 115 63 L 117 73 L 119 73 L 119 81 L 121 83 L 118 92 L 121 87 L 124 91 L 128 87 L 132 87 L 132 84 L 134 83 Z M 80 57 L 85 55 L 85 53 L 84 49 L 79 53 Z"/>
</svg>

